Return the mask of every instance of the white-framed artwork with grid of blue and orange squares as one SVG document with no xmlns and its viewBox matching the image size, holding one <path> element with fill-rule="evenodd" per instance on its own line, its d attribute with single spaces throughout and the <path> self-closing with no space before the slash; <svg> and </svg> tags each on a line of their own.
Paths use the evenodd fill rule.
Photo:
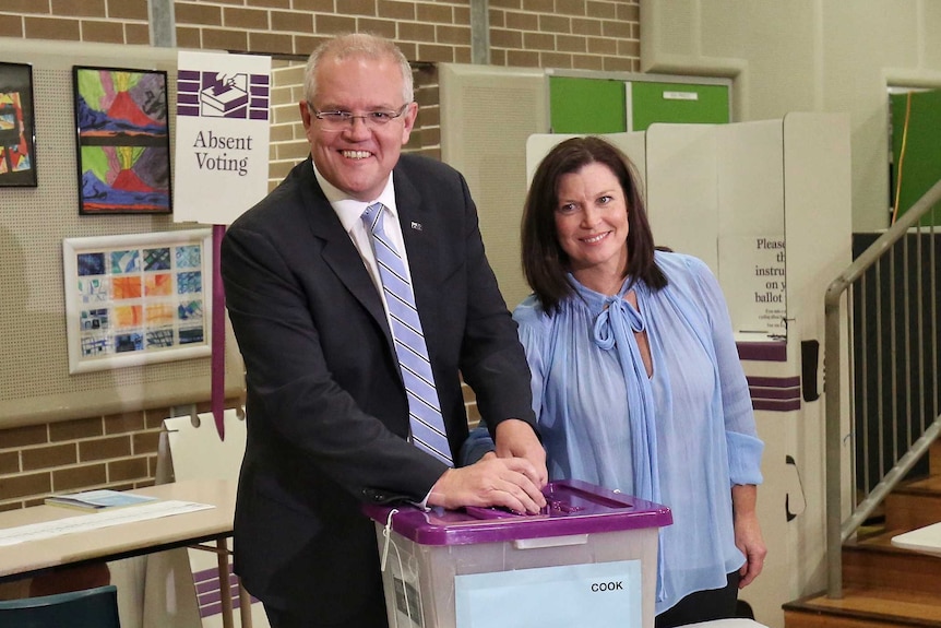
<svg viewBox="0 0 941 628">
<path fill-rule="evenodd" d="M 69 372 L 206 357 L 212 229 L 65 238 Z"/>
</svg>

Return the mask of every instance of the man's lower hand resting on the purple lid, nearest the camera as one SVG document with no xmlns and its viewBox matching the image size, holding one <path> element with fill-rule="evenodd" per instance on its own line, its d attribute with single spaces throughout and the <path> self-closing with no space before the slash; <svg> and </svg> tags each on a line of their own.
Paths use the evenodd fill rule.
<svg viewBox="0 0 941 628">
<path fill-rule="evenodd" d="M 470 466 L 445 471 L 431 487 L 428 505 L 450 509 L 502 506 L 535 514 L 546 506 L 546 498 L 539 490 L 541 487 L 531 479 L 537 476 L 538 472 L 529 461 L 497 458 L 490 452 Z"/>
</svg>

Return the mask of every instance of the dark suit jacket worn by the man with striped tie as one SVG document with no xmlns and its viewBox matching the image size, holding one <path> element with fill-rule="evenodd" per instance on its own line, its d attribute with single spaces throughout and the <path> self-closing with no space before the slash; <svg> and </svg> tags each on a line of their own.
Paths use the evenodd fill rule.
<svg viewBox="0 0 941 628">
<path fill-rule="evenodd" d="M 466 181 L 415 155 L 393 176 L 452 451 L 467 437 L 461 376 L 491 426 L 535 425 L 529 370 Z M 310 158 L 227 230 L 222 275 L 248 389 L 236 570 L 274 608 L 342 621 L 383 604 L 361 503 L 420 501 L 446 467 L 406 441 L 382 301 Z"/>
</svg>

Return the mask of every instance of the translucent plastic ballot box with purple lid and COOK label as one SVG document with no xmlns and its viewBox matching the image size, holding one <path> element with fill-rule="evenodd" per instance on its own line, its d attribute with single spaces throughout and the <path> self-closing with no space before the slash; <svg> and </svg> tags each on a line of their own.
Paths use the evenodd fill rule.
<svg viewBox="0 0 941 628">
<path fill-rule="evenodd" d="M 653 628 L 669 508 L 577 481 L 539 514 L 367 506 L 391 628 Z"/>
</svg>

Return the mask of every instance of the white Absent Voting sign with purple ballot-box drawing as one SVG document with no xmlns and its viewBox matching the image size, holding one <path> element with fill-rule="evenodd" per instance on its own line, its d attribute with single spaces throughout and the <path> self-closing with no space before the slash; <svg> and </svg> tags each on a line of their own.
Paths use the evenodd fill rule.
<svg viewBox="0 0 941 628">
<path fill-rule="evenodd" d="M 180 51 L 174 220 L 227 225 L 267 192 L 271 58 Z"/>
</svg>

